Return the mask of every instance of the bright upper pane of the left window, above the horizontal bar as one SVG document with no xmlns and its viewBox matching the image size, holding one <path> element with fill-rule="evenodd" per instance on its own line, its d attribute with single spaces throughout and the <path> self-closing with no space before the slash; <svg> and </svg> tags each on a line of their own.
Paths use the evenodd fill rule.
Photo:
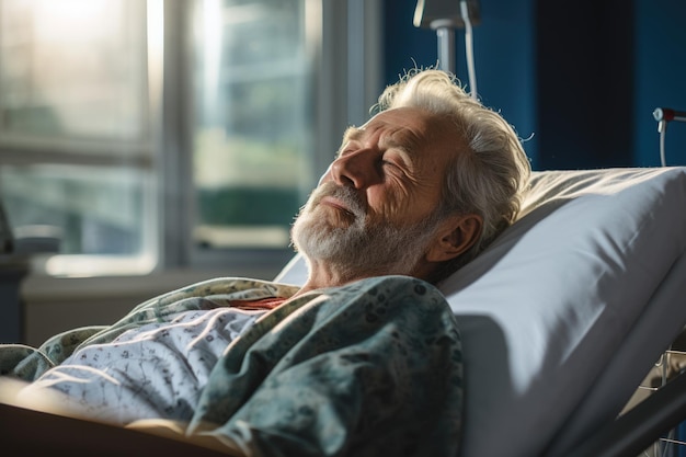
<svg viewBox="0 0 686 457">
<path fill-rule="evenodd" d="M 0 0 L 0 130 L 146 139 L 145 8 L 140 0 Z"/>
</svg>

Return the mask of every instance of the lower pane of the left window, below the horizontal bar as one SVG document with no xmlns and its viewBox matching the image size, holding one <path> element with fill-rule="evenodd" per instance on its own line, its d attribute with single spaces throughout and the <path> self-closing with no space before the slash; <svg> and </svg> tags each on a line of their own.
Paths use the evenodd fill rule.
<svg viewBox="0 0 686 457">
<path fill-rule="evenodd" d="M 146 182 L 130 169 L 5 165 L 0 195 L 24 249 L 33 240 L 60 254 L 136 255 L 146 248 L 150 218 Z"/>
</svg>

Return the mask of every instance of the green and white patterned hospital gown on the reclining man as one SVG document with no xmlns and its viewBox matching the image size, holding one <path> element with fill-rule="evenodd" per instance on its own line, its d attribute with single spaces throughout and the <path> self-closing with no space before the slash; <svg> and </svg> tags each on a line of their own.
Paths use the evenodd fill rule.
<svg viewBox="0 0 686 457">
<path fill-rule="evenodd" d="M 0 369 L 65 393 L 88 416 L 182 421 L 254 456 L 446 456 L 459 448 L 459 332 L 433 286 L 385 276 L 271 311 L 235 300 L 297 288 L 219 278 L 165 294 L 108 328 L 38 351 L 0 347 Z"/>
</svg>

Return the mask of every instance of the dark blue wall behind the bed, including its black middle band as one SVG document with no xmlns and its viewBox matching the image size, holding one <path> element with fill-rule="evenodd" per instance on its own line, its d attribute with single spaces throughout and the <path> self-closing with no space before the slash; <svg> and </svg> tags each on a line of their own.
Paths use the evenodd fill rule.
<svg viewBox="0 0 686 457">
<path fill-rule="evenodd" d="M 385 2 L 387 83 L 415 64 L 436 64 L 435 33 L 412 25 L 415 5 Z M 530 138 L 525 148 L 535 169 L 659 164 L 652 111 L 686 111 L 686 1 L 598 0 L 586 10 L 547 0 L 480 5 L 473 30 L 480 98 Z M 461 31 L 456 36 L 457 75 L 467 82 Z M 686 124 L 673 123 L 667 133 L 668 164 L 686 164 Z"/>
</svg>

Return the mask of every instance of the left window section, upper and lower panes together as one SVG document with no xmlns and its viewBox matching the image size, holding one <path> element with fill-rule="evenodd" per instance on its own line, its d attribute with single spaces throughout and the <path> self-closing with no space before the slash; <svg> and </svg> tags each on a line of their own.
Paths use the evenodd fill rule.
<svg viewBox="0 0 686 457">
<path fill-rule="evenodd" d="M 153 266 L 146 16 L 138 0 L 0 2 L 0 190 L 23 248 L 59 254 L 49 273 Z"/>
</svg>

